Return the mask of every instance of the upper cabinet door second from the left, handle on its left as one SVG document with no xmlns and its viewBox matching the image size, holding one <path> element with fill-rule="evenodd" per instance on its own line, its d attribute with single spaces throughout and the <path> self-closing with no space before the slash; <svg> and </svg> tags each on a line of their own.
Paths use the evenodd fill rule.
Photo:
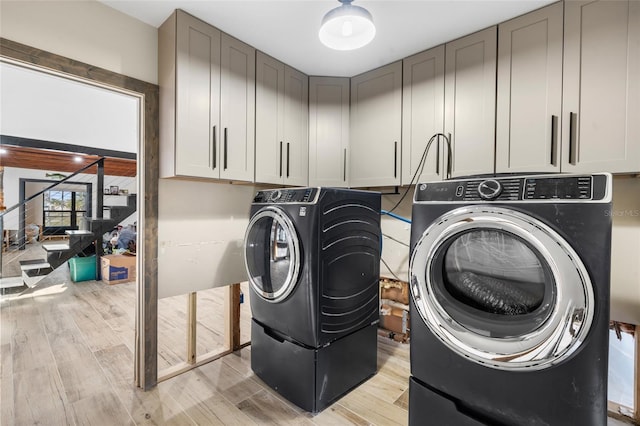
<svg viewBox="0 0 640 426">
<path fill-rule="evenodd" d="M 253 181 L 256 51 L 223 33 L 220 65 L 220 177 Z"/>
</svg>

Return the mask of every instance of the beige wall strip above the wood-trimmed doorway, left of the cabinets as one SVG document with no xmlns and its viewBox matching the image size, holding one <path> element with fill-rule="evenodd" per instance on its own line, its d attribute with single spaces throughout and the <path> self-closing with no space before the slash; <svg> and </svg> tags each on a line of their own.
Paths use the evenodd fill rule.
<svg viewBox="0 0 640 426">
<path fill-rule="evenodd" d="M 97 1 L 0 1 L 0 36 L 158 83 L 158 31 Z"/>
</svg>

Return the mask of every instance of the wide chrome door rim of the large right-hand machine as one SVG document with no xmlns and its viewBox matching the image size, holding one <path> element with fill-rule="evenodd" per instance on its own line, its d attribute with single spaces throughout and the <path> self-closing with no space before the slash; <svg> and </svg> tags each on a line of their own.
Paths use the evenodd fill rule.
<svg viewBox="0 0 640 426">
<path fill-rule="evenodd" d="M 547 263 L 556 286 L 550 315 L 535 330 L 515 337 L 478 334 L 455 321 L 434 296 L 434 256 L 445 241 L 469 230 L 499 230 L 529 243 Z M 502 207 L 452 210 L 422 234 L 411 256 L 411 295 L 422 320 L 450 349 L 501 370 L 540 370 L 569 357 L 589 332 L 594 295 L 589 274 L 573 248 L 541 221 Z"/>
</svg>

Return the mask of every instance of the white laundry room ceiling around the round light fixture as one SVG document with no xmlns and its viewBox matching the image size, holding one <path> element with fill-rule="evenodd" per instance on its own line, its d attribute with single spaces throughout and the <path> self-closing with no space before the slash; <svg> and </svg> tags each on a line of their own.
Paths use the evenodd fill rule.
<svg viewBox="0 0 640 426">
<path fill-rule="evenodd" d="M 159 27 L 183 9 L 308 75 L 352 77 L 538 9 L 556 0 L 355 0 L 371 12 L 376 37 L 353 51 L 318 39 L 337 0 L 100 0 Z"/>
</svg>

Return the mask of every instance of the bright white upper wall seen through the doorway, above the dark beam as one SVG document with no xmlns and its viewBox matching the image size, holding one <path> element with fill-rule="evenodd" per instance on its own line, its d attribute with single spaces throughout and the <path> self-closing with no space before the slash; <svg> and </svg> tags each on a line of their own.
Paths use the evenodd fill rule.
<svg viewBox="0 0 640 426">
<path fill-rule="evenodd" d="M 7 63 L 0 93 L 3 135 L 138 152 L 138 97 Z"/>
</svg>

